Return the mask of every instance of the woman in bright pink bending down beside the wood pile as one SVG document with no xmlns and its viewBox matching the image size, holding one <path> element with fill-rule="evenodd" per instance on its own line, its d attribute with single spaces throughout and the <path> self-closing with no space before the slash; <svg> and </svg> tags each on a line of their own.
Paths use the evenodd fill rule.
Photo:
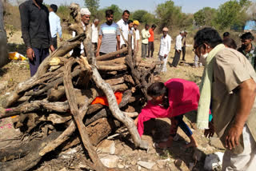
<svg viewBox="0 0 256 171">
<path fill-rule="evenodd" d="M 151 118 L 169 117 L 171 120 L 170 137 L 168 141 L 155 144 L 157 147 L 166 148 L 172 144 L 173 137 L 177 133 L 178 126 L 190 137 L 190 146 L 197 146 L 193 133 L 182 120 L 183 114 L 198 109 L 199 89 L 194 82 L 174 78 L 166 83 L 155 82 L 147 89 L 152 100 L 142 109 L 142 112 L 135 119 L 138 126 L 138 133 L 142 136 L 144 132 L 144 121 Z"/>
</svg>

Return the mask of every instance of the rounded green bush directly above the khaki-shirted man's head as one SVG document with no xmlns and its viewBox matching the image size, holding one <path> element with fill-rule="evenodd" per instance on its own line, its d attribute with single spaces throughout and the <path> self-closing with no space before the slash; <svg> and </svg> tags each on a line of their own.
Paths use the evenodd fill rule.
<svg viewBox="0 0 256 171">
<path fill-rule="evenodd" d="M 205 7 L 202 10 L 198 10 L 198 12 L 194 14 L 194 21 L 198 26 L 213 26 L 213 21 L 216 14 L 216 9 Z"/>
</svg>

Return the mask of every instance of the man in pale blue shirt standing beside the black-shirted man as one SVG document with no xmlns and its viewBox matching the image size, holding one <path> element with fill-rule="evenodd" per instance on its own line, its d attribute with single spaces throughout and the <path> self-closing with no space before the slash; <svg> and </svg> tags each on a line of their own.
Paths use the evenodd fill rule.
<svg viewBox="0 0 256 171">
<path fill-rule="evenodd" d="M 56 14 L 57 10 L 58 10 L 58 6 L 56 6 L 55 4 L 50 5 L 50 14 L 49 14 L 50 34 L 54 42 L 55 50 L 57 50 L 58 48 L 57 33 L 58 33 L 59 40 L 62 42 L 62 26 L 61 26 L 61 20 Z"/>
</svg>

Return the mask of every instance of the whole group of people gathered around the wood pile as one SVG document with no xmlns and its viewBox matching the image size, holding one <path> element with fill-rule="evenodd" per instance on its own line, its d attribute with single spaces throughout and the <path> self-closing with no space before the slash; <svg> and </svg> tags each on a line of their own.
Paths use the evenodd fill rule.
<svg viewBox="0 0 256 171">
<path fill-rule="evenodd" d="M 49 50 L 58 48 L 58 38 L 62 41 L 62 26 L 56 14 L 58 6 L 43 0 L 28 0 L 19 6 L 22 21 L 22 38 L 26 45 L 26 56 L 30 61 L 31 77 L 40 63 L 49 55 Z M 86 30 L 90 24 L 90 10 L 82 8 L 81 24 Z M 106 22 L 99 26 L 99 20 L 92 24 L 92 43 L 96 58 L 121 50 L 127 46 L 128 35 L 133 35 L 133 49 L 138 51 L 142 43 L 142 58 L 154 57 L 154 30 L 156 25 L 145 25 L 140 32 L 139 22 L 130 20 L 130 11 L 125 10 L 122 18 L 115 23 L 114 11 L 106 10 Z M 99 27 L 99 30 L 98 30 Z M 166 72 L 166 63 L 171 50 L 172 38 L 168 28 L 162 29 L 158 60 L 162 61 L 161 71 Z M 141 34 L 141 35 L 140 35 Z M 57 36 L 58 35 L 58 36 Z M 186 35 L 183 30 L 176 37 L 174 59 L 171 64 L 178 66 L 181 54 L 186 61 Z M 73 33 L 73 37 L 76 33 Z M 228 32 L 220 37 L 217 30 L 204 28 L 194 36 L 194 66 L 205 65 L 200 91 L 194 82 L 174 78 L 165 83 L 154 82 L 147 89 L 151 100 L 134 120 L 138 133 L 142 136 L 144 122 L 151 118 L 170 118 L 170 137 L 167 141 L 155 143 L 155 148 L 168 148 L 177 135 L 178 127 L 190 138 L 186 148 L 197 147 L 192 131 L 183 121 L 183 116 L 198 110 L 199 129 L 205 129 L 206 137 L 217 133 L 226 147 L 222 170 L 248 170 L 256 168 L 256 49 L 254 36 L 250 32 L 242 34 L 242 46 L 237 45 Z M 135 43 L 135 44 L 134 44 Z M 84 47 L 70 53 L 86 56 Z M 200 93 L 199 93 L 200 92 Z M 212 116 L 212 117 L 210 117 Z"/>
</svg>

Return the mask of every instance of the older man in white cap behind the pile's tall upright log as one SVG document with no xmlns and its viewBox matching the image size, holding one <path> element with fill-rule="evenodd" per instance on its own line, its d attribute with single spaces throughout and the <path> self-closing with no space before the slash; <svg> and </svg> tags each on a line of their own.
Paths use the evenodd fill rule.
<svg viewBox="0 0 256 171">
<path fill-rule="evenodd" d="M 80 14 L 81 14 L 82 29 L 84 31 L 86 31 L 86 26 L 90 22 L 90 10 L 88 10 L 88 8 L 81 8 Z M 77 36 L 77 35 L 73 31 L 72 37 L 74 38 L 75 36 Z M 70 51 L 70 55 L 71 54 L 73 54 L 73 50 Z M 85 51 L 84 51 L 84 46 L 83 46 L 82 43 L 81 43 L 80 49 L 79 48 L 74 48 L 74 56 L 77 56 L 79 54 L 82 54 L 82 55 L 86 56 Z"/>
</svg>

